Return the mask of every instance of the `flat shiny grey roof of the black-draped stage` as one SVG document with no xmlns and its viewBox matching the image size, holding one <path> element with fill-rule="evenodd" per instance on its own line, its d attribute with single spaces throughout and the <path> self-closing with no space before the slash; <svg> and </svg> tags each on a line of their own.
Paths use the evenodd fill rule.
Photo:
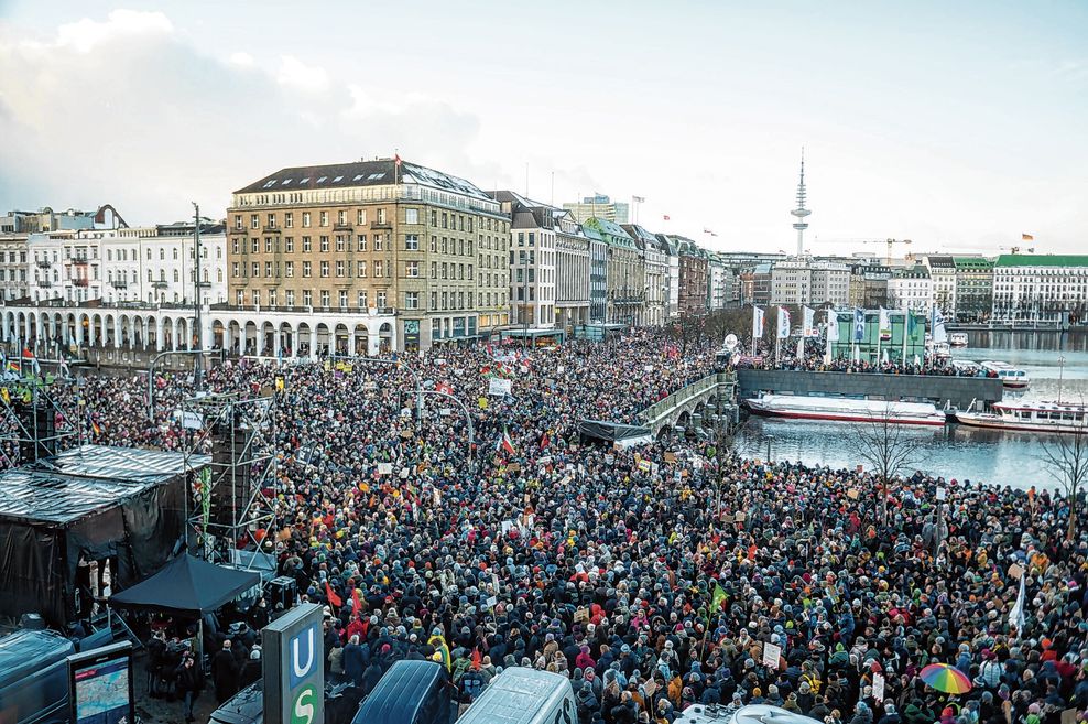
<svg viewBox="0 0 1088 724">
<path fill-rule="evenodd" d="M 189 468 L 211 463 L 191 455 Z M 184 453 L 83 445 L 0 473 L 0 519 L 67 526 L 121 505 L 185 468 Z"/>
</svg>

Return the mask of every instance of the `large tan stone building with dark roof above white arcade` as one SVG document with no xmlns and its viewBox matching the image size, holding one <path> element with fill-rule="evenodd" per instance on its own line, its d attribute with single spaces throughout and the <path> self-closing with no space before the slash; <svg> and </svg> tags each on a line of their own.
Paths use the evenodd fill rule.
<svg viewBox="0 0 1088 724">
<path fill-rule="evenodd" d="M 440 171 L 394 159 L 282 169 L 235 192 L 227 239 L 236 306 L 350 311 L 363 326 L 392 316 L 382 345 L 401 350 L 509 325 L 510 220 Z"/>
</svg>

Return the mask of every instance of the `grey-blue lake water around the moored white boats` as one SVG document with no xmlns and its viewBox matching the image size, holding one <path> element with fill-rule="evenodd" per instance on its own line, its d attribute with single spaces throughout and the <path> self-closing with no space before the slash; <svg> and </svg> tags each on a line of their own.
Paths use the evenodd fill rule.
<svg viewBox="0 0 1088 724">
<path fill-rule="evenodd" d="M 1027 371 L 1031 387 L 1005 390 L 1005 400 L 1088 401 L 1088 333 L 971 332 L 968 347 L 953 350 L 958 359 L 1003 360 Z M 1062 364 L 1064 358 L 1064 366 Z M 787 458 L 833 467 L 853 467 L 850 425 L 837 422 L 750 418 L 737 435 L 737 449 L 749 457 Z M 1055 487 L 1041 460 L 1042 445 L 1055 435 L 1000 432 L 962 425 L 909 428 L 920 449 L 914 469 L 957 480 L 997 483 L 1018 488 Z"/>
</svg>

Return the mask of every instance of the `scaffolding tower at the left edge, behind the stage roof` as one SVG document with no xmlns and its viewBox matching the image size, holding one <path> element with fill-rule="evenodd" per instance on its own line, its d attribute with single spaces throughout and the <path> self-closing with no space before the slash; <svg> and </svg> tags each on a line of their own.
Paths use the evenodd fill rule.
<svg viewBox="0 0 1088 724">
<path fill-rule="evenodd" d="M 0 467 L 17 467 L 50 457 L 81 434 L 78 415 L 64 409 L 52 388 L 73 380 L 41 377 L 0 378 Z"/>
</svg>

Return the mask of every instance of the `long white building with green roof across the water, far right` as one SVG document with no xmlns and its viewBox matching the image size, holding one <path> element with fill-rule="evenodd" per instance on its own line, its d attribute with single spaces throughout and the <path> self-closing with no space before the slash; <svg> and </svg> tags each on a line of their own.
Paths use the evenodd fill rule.
<svg viewBox="0 0 1088 724">
<path fill-rule="evenodd" d="M 991 322 L 1084 323 L 1088 256 L 1003 253 L 993 264 Z"/>
</svg>

